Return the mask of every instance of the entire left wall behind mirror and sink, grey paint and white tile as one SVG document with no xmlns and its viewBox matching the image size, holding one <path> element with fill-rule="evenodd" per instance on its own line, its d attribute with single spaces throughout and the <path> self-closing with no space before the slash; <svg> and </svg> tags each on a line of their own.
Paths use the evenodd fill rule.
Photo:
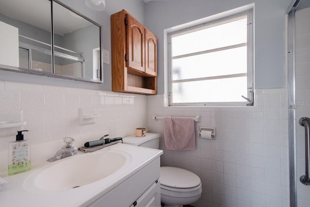
<svg viewBox="0 0 310 207">
<path fill-rule="evenodd" d="M 126 9 L 144 22 L 144 2 L 140 0 L 106 0 L 107 9 L 94 12 L 85 0 L 62 0 L 81 14 L 103 26 L 103 47 L 110 51 L 110 15 Z M 94 84 L 61 80 L 9 71 L 0 71 L 0 121 L 7 121 L 10 113 L 24 112 L 25 139 L 43 143 L 108 129 L 111 137 L 134 133 L 136 127 L 145 126 L 147 97 L 144 95 L 111 92 L 111 66 L 104 64 L 104 83 Z M 78 109 L 91 108 L 101 114 L 95 124 L 80 126 Z M 15 115 L 13 115 L 15 116 Z M 0 151 L 15 140 L 12 131 L 20 127 L 0 129 Z M 10 136 L 6 136 L 11 134 Z"/>
</svg>

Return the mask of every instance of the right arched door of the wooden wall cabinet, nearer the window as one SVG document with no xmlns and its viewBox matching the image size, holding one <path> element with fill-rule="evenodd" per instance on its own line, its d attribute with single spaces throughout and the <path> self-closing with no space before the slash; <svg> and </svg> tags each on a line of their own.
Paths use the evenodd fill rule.
<svg viewBox="0 0 310 207">
<path fill-rule="evenodd" d="M 157 75 L 157 37 L 145 28 L 145 72 Z"/>
</svg>

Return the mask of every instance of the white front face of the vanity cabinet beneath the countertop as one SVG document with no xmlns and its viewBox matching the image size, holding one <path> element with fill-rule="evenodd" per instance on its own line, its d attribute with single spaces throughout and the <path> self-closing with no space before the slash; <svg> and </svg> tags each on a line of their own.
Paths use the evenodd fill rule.
<svg viewBox="0 0 310 207">
<path fill-rule="evenodd" d="M 87 207 L 160 207 L 160 158 L 109 189 Z"/>
</svg>

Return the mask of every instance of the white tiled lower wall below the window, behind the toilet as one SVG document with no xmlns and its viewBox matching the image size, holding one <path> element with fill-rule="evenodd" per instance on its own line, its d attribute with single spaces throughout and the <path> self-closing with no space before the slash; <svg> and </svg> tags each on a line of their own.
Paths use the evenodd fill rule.
<svg viewBox="0 0 310 207">
<path fill-rule="evenodd" d="M 202 179 L 202 197 L 193 206 L 289 206 L 287 106 L 281 101 L 287 101 L 286 89 L 257 90 L 256 107 L 164 107 L 164 95 L 148 97 L 148 125 L 162 135 L 161 164 L 185 168 Z M 195 150 L 167 150 L 163 120 L 153 120 L 154 114 L 200 114 Z M 199 139 L 200 126 L 216 127 L 217 140 Z M 200 159 L 200 167 L 184 161 L 185 156 Z"/>
</svg>

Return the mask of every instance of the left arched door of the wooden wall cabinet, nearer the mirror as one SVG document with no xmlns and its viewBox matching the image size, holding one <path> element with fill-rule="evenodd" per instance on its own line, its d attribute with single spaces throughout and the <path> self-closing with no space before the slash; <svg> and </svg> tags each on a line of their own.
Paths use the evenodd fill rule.
<svg viewBox="0 0 310 207">
<path fill-rule="evenodd" d="M 144 27 L 127 16 L 127 67 L 144 72 Z"/>
</svg>

